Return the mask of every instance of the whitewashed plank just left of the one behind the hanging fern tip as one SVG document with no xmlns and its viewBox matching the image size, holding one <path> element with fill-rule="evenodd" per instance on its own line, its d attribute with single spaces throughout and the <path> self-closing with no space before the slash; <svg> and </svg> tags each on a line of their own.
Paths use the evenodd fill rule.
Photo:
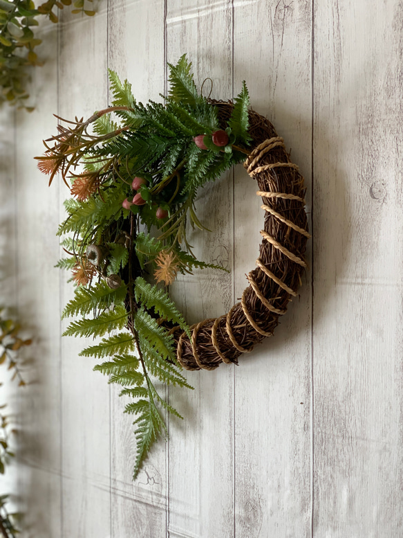
<svg viewBox="0 0 403 538">
<path fill-rule="evenodd" d="M 95 17 L 64 10 L 59 27 L 59 116 L 88 118 L 107 100 L 107 3 Z M 55 128 L 53 129 L 55 132 Z M 62 186 L 61 197 L 69 197 Z M 62 220 L 63 215 L 60 215 Z M 63 275 L 62 305 L 73 296 Z M 68 320 L 63 323 L 63 330 Z M 93 373 L 95 361 L 78 357 L 90 339 L 62 339 L 62 536 L 110 534 L 109 386 Z"/>
</svg>

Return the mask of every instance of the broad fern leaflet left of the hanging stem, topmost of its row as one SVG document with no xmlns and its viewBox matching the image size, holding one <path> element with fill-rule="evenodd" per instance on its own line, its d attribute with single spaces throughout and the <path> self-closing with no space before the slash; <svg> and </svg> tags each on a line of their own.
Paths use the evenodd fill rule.
<svg viewBox="0 0 403 538">
<path fill-rule="evenodd" d="M 111 289 L 103 280 L 90 289 L 77 287 L 75 297 L 68 302 L 62 313 L 62 319 L 75 314 L 88 314 L 93 308 L 104 310 L 109 308 L 112 303 L 115 305 L 122 303 L 126 294 L 126 286 Z"/>
</svg>

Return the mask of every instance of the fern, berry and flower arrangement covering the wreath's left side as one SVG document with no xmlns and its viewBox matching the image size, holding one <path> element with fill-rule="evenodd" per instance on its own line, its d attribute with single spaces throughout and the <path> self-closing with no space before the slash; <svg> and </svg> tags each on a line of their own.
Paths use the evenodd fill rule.
<svg viewBox="0 0 403 538">
<path fill-rule="evenodd" d="M 66 336 L 102 337 L 80 355 L 131 397 L 137 476 L 149 448 L 166 433 L 165 413 L 180 414 L 161 395 L 165 385 L 191 388 L 176 359 L 173 332 L 190 330 L 163 286 L 194 267 L 187 222 L 205 229 L 195 211 L 198 188 L 249 153 L 245 83 L 227 125 L 198 93 L 183 55 L 169 64 L 165 102 L 137 102 L 129 82 L 109 71 L 111 106 L 88 120 L 61 120 L 45 141 L 39 169 L 60 173 L 73 198 L 58 235 L 70 256 L 58 267 L 77 285 L 63 316 L 78 316 Z"/>
</svg>

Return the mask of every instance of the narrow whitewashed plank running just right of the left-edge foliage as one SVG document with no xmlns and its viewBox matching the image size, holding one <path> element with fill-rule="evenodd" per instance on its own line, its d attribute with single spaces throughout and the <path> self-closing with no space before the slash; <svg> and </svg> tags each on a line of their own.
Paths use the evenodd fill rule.
<svg viewBox="0 0 403 538">
<path fill-rule="evenodd" d="M 37 49 L 45 64 L 32 70 L 30 101 L 35 110 L 17 112 L 15 182 L 17 199 L 18 318 L 32 338 L 23 374 L 28 385 L 19 391 L 19 496 L 27 534 L 60 536 L 61 461 L 59 424 L 59 221 L 57 188 L 37 169 L 34 156 L 42 154 L 42 139 L 53 129 L 50 110 L 57 110 L 57 27 L 44 22 Z"/>
</svg>

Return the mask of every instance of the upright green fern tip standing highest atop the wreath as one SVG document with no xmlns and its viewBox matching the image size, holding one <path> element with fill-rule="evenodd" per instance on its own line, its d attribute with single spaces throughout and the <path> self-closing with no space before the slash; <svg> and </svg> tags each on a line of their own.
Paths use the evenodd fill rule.
<svg viewBox="0 0 403 538">
<path fill-rule="evenodd" d="M 196 84 L 191 73 L 191 63 L 187 61 L 186 54 L 180 57 L 178 64 L 169 66 L 169 99 L 196 107 L 203 100 L 198 95 Z"/>
</svg>

